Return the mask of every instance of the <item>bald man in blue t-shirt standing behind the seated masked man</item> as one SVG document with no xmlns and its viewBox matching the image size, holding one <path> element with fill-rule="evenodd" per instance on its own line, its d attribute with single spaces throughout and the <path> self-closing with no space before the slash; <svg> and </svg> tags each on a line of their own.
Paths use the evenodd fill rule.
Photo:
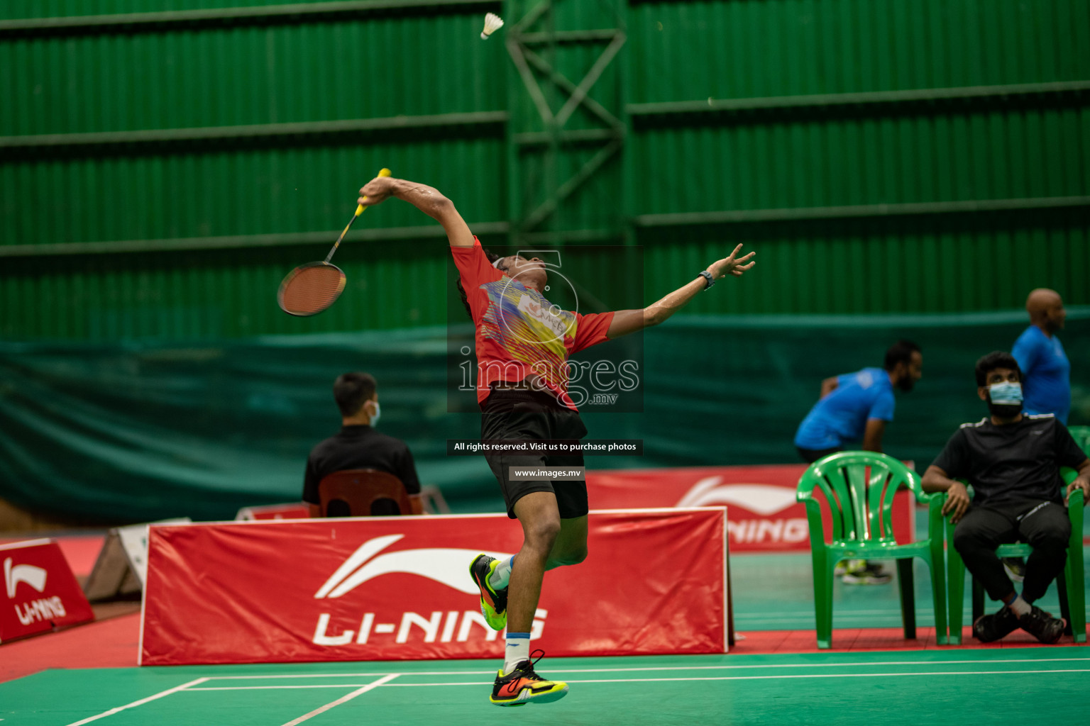
<svg viewBox="0 0 1090 726">
<path fill-rule="evenodd" d="M 1071 410 L 1071 365 L 1056 331 L 1067 311 L 1054 290 L 1039 287 L 1026 299 L 1030 327 L 1015 341 L 1012 353 L 1022 372 L 1022 406 L 1029 414 L 1052 414 L 1067 424 Z"/>
</svg>

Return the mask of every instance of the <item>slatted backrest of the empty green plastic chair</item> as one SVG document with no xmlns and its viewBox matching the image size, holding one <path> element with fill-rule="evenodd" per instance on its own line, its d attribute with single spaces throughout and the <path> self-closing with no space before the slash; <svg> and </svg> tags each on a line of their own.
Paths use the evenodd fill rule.
<svg viewBox="0 0 1090 726">
<path fill-rule="evenodd" d="M 901 487 L 928 501 L 920 477 L 886 454 L 837 452 L 810 465 L 796 499 L 820 516 L 815 489 L 825 495 L 833 515 L 833 541 L 894 542 L 893 497 Z"/>
</svg>

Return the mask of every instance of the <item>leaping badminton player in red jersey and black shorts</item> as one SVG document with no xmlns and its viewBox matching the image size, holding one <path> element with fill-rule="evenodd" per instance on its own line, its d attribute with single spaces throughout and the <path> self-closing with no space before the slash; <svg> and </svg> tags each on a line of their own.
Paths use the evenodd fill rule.
<svg viewBox="0 0 1090 726">
<path fill-rule="evenodd" d="M 586 428 L 567 391 L 568 356 L 657 325 L 716 280 L 740 276 L 753 267 L 753 253 L 739 257 L 738 245 L 729 257 L 712 262 L 645 308 L 580 315 L 560 310 L 542 295 L 548 272 L 540 259 L 485 253 L 453 204 L 438 190 L 380 176 L 360 195 L 360 204 L 368 206 L 388 197 L 403 199 L 446 230 L 476 327 L 481 438 L 487 440 L 582 439 Z M 488 454 L 486 458 L 502 489 L 508 516 L 517 518 L 523 531 L 522 549 L 514 556 L 498 561 L 482 554 L 470 564 L 485 619 L 496 630 L 507 627 L 504 667 L 491 700 L 498 705 L 556 701 L 568 692 L 568 685 L 534 673 L 537 661 L 531 661 L 530 630 L 545 570 L 586 557 L 586 482 L 519 480 L 510 468 L 582 467 L 583 457 Z"/>
</svg>

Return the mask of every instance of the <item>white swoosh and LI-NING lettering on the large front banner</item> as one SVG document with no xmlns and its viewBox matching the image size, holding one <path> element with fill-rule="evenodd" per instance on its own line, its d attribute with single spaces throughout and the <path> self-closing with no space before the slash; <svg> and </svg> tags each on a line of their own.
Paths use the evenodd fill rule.
<svg viewBox="0 0 1090 726">
<path fill-rule="evenodd" d="M 422 547 L 378 554 L 403 537 L 404 534 L 387 534 L 361 544 L 337 568 L 332 577 L 318 588 L 314 593 L 315 600 L 340 598 L 368 580 L 395 573 L 417 575 L 468 595 L 477 594 L 476 586 L 470 579 L 467 567 L 481 553 L 480 550 Z M 502 552 L 486 554 L 497 558 L 511 556 Z M 411 605 L 411 595 L 407 596 L 407 600 L 409 601 L 407 604 Z M 532 637 L 541 637 L 547 615 L 546 611 L 537 608 L 531 628 Z M 382 622 L 387 618 L 389 622 Z M 426 616 L 415 612 L 404 612 L 392 617 L 390 614 L 363 613 L 352 623 L 351 629 L 344 628 L 344 625 L 349 625 L 344 623 L 340 624 L 340 627 L 335 625 L 332 631 L 330 631 L 330 620 L 329 613 L 318 614 L 311 642 L 316 645 L 365 645 L 371 643 L 375 636 L 393 636 L 395 643 L 407 643 L 414 630 L 423 633 L 425 643 L 467 642 L 474 626 L 489 641 L 499 635 L 499 631 L 488 628 L 485 619 L 475 611 L 435 611 Z"/>
</svg>

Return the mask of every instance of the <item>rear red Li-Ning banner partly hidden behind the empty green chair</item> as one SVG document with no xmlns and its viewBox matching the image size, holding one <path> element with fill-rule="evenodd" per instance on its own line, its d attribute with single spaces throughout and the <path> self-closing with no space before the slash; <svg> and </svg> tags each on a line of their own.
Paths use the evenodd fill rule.
<svg viewBox="0 0 1090 726">
<path fill-rule="evenodd" d="M 806 464 L 787 464 L 588 471 L 586 490 L 591 506 L 604 509 L 727 505 L 731 552 L 810 552 L 806 505 L 795 501 L 806 470 Z M 828 539 L 832 520 L 822 506 Z M 915 539 L 915 515 L 911 495 L 897 492 L 893 531 L 898 542 Z"/>
</svg>

